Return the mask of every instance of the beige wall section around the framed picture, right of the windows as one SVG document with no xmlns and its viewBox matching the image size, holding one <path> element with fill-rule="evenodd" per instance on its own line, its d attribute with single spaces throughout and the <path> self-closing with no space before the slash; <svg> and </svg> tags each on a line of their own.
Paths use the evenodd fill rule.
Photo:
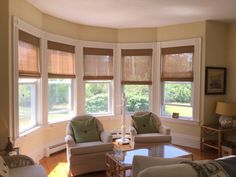
<svg viewBox="0 0 236 177">
<path fill-rule="evenodd" d="M 205 65 L 227 67 L 227 24 L 209 21 L 206 24 Z M 204 69 L 204 68 L 203 68 Z M 204 71 L 203 71 L 204 72 Z M 226 95 L 206 95 L 204 98 L 204 124 L 217 123 L 215 114 L 217 101 L 224 101 Z"/>
</svg>

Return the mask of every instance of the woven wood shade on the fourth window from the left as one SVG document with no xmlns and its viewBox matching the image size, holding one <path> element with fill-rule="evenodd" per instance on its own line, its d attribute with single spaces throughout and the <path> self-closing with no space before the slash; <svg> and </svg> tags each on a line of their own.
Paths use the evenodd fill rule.
<svg viewBox="0 0 236 177">
<path fill-rule="evenodd" d="M 122 49 L 122 84 L 152 84 L 152 49 Z"/>
</svg>

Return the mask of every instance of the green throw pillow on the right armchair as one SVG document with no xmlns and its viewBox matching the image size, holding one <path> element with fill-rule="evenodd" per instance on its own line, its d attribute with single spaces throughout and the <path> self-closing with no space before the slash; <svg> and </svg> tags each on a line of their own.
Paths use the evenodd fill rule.
<svg viewBox="0 0 236 177">
<path fill-rule="evenodd" d="M 151 117 L 152 113 L 143 114 L 140 116 L 132 115 L 132 121 L 137 133 L 157 133 L 156 122 Z"/>
</svg>

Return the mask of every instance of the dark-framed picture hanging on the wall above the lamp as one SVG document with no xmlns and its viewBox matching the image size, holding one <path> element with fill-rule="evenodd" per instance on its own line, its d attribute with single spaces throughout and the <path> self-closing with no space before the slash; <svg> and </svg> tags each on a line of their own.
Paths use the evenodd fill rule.
<svg viewBox="0 0 236 177">
<path fill-rule="evenodd" d="M 223 67 L 206 67 L 206 95 L 220 95 L 226 93 L 226 72 L 226 68 Z"/>
</svg>

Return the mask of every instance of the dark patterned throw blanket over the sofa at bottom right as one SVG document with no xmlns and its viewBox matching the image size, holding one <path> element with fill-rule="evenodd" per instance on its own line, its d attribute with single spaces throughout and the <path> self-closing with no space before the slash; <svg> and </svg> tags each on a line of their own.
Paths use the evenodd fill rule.
<svg viewBox="0 0 236 177">
<path fill-rule="evenodd" d="M 182 162 L 191 165 L 199 177 L 236 177 L 236 157 L 210 160 L 205 163 Z"/>
</svg>

